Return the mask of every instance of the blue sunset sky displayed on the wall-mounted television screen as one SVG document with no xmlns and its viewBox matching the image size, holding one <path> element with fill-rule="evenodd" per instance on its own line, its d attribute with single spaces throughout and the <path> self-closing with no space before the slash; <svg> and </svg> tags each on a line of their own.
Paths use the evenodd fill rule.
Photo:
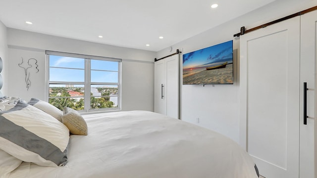
<svg viewBox="0 0 317 178">
<path fill-rule="evenodd" d="M 232 41 L 228 41 L 183 54 L 183 70 L 206 67 L 212 63 L 223 62 L 224 59 L 229 59 L 229 63 L 232 62 L 232 43 Z"/>
</svg>

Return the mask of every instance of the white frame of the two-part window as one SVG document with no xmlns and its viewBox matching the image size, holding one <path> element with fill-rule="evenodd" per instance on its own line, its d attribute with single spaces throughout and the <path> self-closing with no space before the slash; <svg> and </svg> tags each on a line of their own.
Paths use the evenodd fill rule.
<svg viewBox="0 0 317 178">
<path fill-rule="evenodd" d="M 83 58 L 84 59 L 84 82 L 61 82 L 61 81 L 50 81 L 50 55 L 63 56 L 63 57 L 75 57 L 75 58 Z M 91 85 L 115 85 L 118 86 L 118 103 L 117 107 L 111 108 L 99 108 L 99 109 L 91 109 L 91 95 L 84 94 L 84 110 L 78 110 L 81 113 L 91 113 L 91 112 L 106 112 L 106 111 L 116 111 L 121 110 L 121 66 L 122 59 L 111 58 L 111 57 L 102 57 L 102 56 L 93 56 L 93 55 L 85 55 L 85 54 L 76 54 L 76 53 L 68 53 L 68 52 L 58 52 L 58 51 L 49 51 L 46 50 L 46 85 L 45 85 L 45 100 L 49 102 L 49 90 L 50 84 L 61 84 L 61 85 L 84 85 L 85 93 L 91 93 Z M 113 61 L 118 62 L 118 79 L 117 83 L 107 83 L 107 82 L 91 82 L 91 60 L 104 60 L 104 61 Z M 58 68 L 58 67 L 56 67 Z M 76 69 L 76 68 L 71 68 Z M 94 69 L 93 69 L 94 70 Z M 102 70 L 104 71 L 104 70 Z M 77 96 L 79 97 L 79 96 Z M 110 96 L 111 97 L 111 96 Z M 60 97 L 62 98 L 62 97 Z M 76 98 L 73 96 L 71 98 Z"/>
</svg>

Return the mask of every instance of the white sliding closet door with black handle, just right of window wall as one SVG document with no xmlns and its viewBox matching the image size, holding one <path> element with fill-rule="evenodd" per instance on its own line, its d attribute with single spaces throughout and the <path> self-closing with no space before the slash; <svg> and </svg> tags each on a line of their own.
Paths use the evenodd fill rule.
<svg viewBox="0 0 317 178">
<path fill-rule="evenodd" d="M 166 67 L 165 61 L 159 60 L 154 64 L 154 112 L 166 115 Z"/>
</svg>

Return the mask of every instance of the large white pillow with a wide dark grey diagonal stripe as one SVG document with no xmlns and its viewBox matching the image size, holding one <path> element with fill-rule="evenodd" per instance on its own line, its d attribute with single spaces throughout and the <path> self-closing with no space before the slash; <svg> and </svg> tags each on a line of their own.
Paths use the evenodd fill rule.
<svg viewBox="0 0 317 178">
<path fill-rule="evenodd" d="M 25 102 L 0 112 L 0 149 L 39 166 L 67 163 L 69 130 L 51 115 Z"/>
</svg>

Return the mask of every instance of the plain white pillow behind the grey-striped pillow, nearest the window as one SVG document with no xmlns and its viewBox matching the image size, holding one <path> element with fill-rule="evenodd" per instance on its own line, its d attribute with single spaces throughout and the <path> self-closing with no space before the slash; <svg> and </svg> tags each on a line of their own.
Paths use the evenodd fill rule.
<svg viewBox="0 0 317 178">
<path fill-rule="evenodd" d="M 55 106 L 53 106 L 52 104 L 36 98 L 31 98 L 28 104 L 41 109 L 42 111 L 56 118 L 59 122 L 62 122 L 61 117 L 63 116 L 63 112 Z"/>
</svg>

